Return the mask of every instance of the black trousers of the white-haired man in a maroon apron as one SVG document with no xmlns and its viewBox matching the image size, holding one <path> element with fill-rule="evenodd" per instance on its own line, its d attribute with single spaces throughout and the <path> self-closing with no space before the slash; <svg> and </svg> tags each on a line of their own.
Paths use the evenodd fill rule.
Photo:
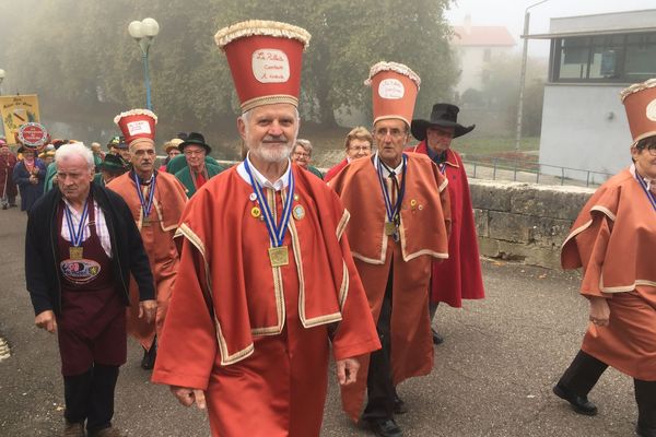
<svg viewBox="0 0 656 437">
<path fill-rule="evenodd" d="M 90 433 L 112 426 L 117 379 L 118 366 L 102 364 L 95 364 L 81 375 L 65 376 L 66 420 L 79 423 L 86 421 Z"/>
</svg>

